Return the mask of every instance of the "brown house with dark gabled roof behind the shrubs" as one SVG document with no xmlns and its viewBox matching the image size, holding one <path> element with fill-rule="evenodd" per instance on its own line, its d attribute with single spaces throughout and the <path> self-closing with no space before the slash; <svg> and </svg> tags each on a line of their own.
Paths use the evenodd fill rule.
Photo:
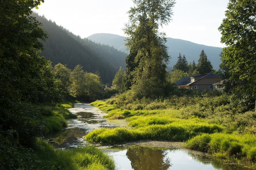
<svg viewBox="0 0 256 170">
<path fill-rule="evenodd" d="M 175 84 L 179 88 L 187 88 L 190 90 L 213 90 L 214 87 L 216 87 L 215 89 L 218 89 L 220 87 L 218 86 L 220 84 L 216 84 L 217 82 L 220 82 L 220 80 L 220 76 L 213 73 L 207 73 L 181 78 Z M 223 88 L 223 86 L 221 87 Z"/>
</svg>

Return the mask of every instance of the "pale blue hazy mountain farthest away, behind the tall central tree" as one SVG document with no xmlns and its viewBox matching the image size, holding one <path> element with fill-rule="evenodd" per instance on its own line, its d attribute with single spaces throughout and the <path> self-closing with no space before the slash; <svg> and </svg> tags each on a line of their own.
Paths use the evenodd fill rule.
<svg viewBox="0 0 256 170">
<path fill-rule="evenodd" d="M 125 51 L 126 47 L 124 46 L 125 37 L 119 36 L 115 34 L 108 33 L 96 33 L 87 37 L 87 39 L 101 43 L 108 44 L 109 46 L 113 46 L 118 50 Z M 196 44 L 190 41 L 167 38 L 166 46 L 169 48 L 168 53 L 172 57 L 170 59 L 169 69 L 172 69 L 172 66 L 177 63 L 177 57 L 179 53 L 183 56 L 185 55 L 188 63 L 195 60 L 198 63 L 199 55 L 202 50 L 204 50 L 207 58 L 211 61 L 213 68 L 219 69 L 220 61 L 220 52 L 222 48 L 220 47 L 211 47 L 201 44 Z"/>
</svg>

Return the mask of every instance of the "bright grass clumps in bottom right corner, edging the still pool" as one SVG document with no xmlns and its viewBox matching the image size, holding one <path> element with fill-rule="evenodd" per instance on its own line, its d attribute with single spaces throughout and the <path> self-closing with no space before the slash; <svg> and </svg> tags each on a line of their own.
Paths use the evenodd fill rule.
<svg viewBox="0 0 256 170">
<path fill-rule="evenodd" d="M 256 167 L 256 137 L 226 133 L 202 134 L 186 142 L 189 149 L 211 153 Z"/>
</svg>

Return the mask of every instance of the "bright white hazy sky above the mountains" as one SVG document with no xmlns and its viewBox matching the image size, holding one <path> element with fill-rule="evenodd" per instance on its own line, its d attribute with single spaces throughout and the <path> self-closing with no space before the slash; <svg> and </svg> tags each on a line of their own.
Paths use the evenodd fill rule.
<svg viewBox="0 0 256 170">
<path fill-rule="evenodd" d="M 167 37 L 223 47 L 218 31 L 228 0 L 176 0 L 173 21 L 164 26 Z M 94 33 L 124 35 L 132 0 L 44 0 L 35 10 L 82 38 Z"/>
</svg>

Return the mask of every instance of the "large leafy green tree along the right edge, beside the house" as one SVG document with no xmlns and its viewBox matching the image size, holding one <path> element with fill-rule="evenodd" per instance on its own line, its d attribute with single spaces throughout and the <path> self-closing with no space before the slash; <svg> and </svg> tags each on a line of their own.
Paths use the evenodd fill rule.
<svg viewBox="0 0 256 170">
<path fill-rule="evenodd" d="M 226 18 L 219 27 L 222 34 L 221 42 L 227 46 L 223 48 L 222 63 L 229 67 L 230 79 L 238 83 L 235 92 L 242 92 L 245 94 L 244 99 L 254 98 L 254 101 L 256 96 L 255 7 L 255 0 L 230 0 L 225 13 Z"/>
</svg>

